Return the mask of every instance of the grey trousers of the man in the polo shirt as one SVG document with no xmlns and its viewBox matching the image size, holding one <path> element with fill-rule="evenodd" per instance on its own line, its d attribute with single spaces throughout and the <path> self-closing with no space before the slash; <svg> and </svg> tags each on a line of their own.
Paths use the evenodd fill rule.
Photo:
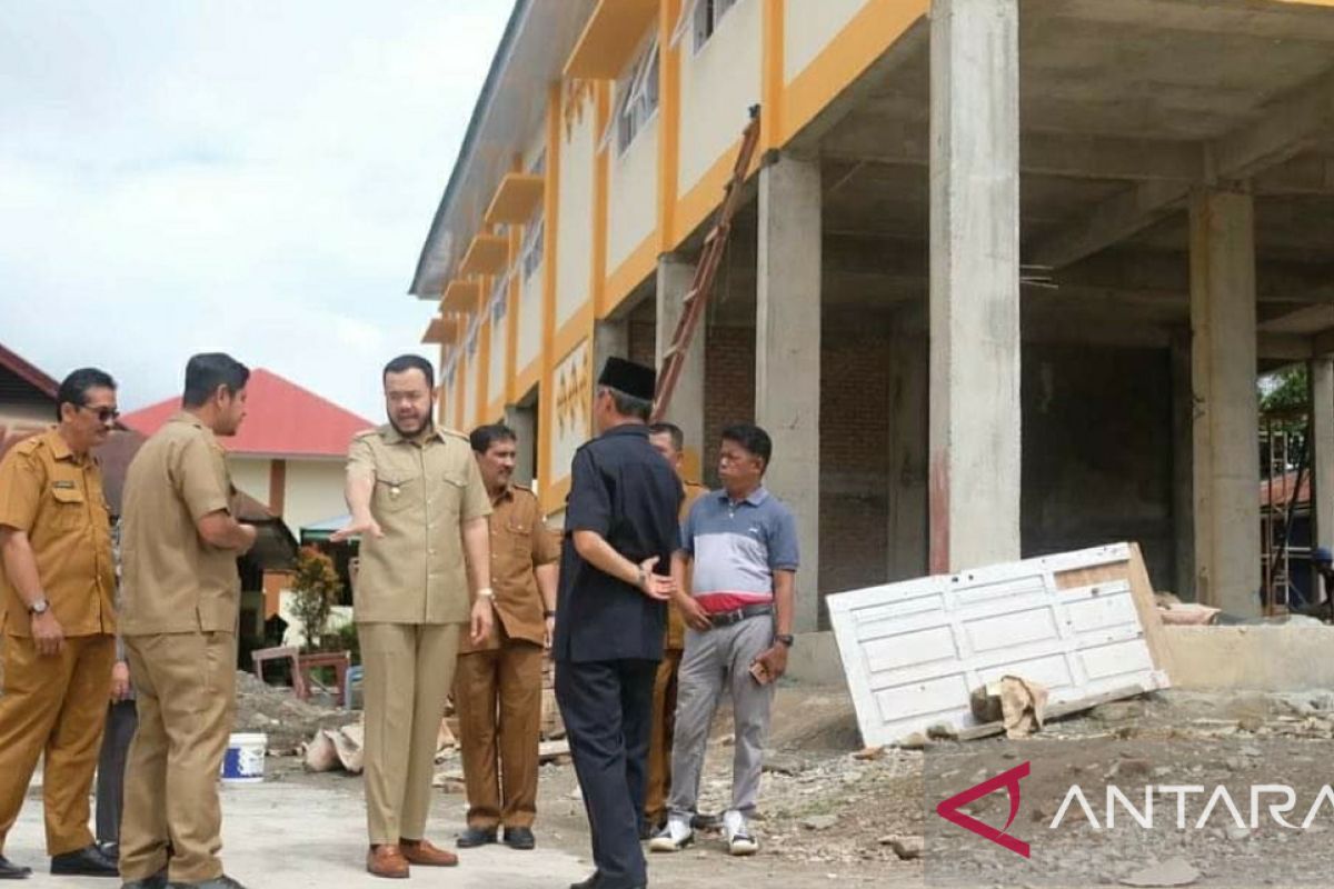
<svg viewBox="0 0 1334 889">
<path fill-rule="evenodd" d="M 671 797 L 667 801 L 671 814 L 695 814 L 708 726 L 724 692 L 732 701 L 736 733 L 731 808 L 747 816 L 755 810 L 774 684 L 756 682 L 750 674 L 750 665 L 772 644 L 771 614 L 758 614 L 704 632 L 686 630 L 686 653 L 676 676 L 676 733 L 672 740 Z"/>
</svg>

